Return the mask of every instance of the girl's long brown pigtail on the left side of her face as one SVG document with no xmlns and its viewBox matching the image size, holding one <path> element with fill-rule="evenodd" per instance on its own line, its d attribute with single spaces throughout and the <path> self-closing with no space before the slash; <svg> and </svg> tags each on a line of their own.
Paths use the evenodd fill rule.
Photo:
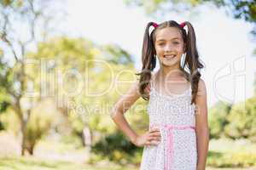
<svg viewBox="0 0 256 170">
<path fill-rule="evenodd" d="M 139 79 L 139 93 L 142 94 L 143 99 L 148 100 L 148 95 L 145 93 L 145 88 L 148 86 L 148 83 L 151 79 L 151 71 L 154 70 L 156 64 L 156 57 L 155 57 L 155 49 L 154 49 L 154 41 L 153 35 L 154 31 L 151 32 L 149 35 L 149 28 L 153 26 L 153 22 L 149 22 L 146 26 L 144 37 L 143 37 L 143 51 L 142 51 L 142 62 L 143 68 L 140 73 L 137 75 L 140 76 Z"/>
</svg>

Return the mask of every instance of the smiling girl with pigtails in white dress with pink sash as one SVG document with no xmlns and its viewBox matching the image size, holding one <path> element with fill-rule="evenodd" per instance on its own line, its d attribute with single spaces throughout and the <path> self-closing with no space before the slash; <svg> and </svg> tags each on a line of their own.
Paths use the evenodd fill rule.
<svg viewBox="0 0 256 170">
<path fill-rule="evenodd" d="M 151 26 L 154 30 L 149 33 Z M 156 58 L 160 69 L 153 74 Z M 119 99 L 111 115 L 131 142 L 143 147 L 140 170 L 206 168 L 207 91 L 201 68 L 195 31 L 188 21 L 148 23 L 139 82 Z M 124 116 L 140 97 L 148 99 L 149 129 L 143 135 L 137 135 Z"/>
</svg>

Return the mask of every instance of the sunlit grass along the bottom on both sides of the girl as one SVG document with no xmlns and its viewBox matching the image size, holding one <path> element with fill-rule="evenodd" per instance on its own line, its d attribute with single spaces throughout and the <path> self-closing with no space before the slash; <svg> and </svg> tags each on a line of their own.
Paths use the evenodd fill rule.
<svg viewBox="0 0 256 170">
<path fill-rule="evenodd" d="M 0 140 L 1 141 L 1 140 Z M 9 140 L 7 140 L 9 141 Z M 75 146 L 77 146 L 76 144 Z M 9 148 L 3 144 L 2 148 Z M 121 167 L 113 162 L 96 161 L 85 162 L 86 150 L 74 147 L 69 142 L 55 144 L 41 141 L 35 150 L 35 156 L 3 156 L 0 154 L 0 170 L 138 170 L 139 167 Z M 5 152 L 4 152 L 5 153 Z M 15 153 L 15 152 L 14 152 Z M 83 153 L 83 154 L 81 154 Z M 46 155 L 45 155 L 46 154 Z M 55 156 L 64 156 L 55 159 Z M 42 157 L 43 156 L 43 157 Z M 66 159 L 68 156 L 68 159 Z M 98 155 L 96 155 L 98 156 Z M 72 158 L 72 159 L 71 159 Z M 140 161 L 140 160 L 139 160 Z M 138 161 L 138 162 L 139 162 Z M 91 162 L 91 163 L 89 163 Z M 129 161 L 130 162 L 130 161 Z M 247 139 L 211 140 L 207 170 L 256 170 L 256 144 Z M 253 167 L 254 166 L 254 167 Z M 218 168 L 217 168 L 218 167 Z M 243 168 L 241 168 L 243 167 Z"/>
</svg>

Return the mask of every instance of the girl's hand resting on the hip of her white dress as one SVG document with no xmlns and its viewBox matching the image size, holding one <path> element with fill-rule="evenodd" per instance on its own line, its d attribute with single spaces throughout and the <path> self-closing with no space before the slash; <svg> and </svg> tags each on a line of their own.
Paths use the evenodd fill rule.
<svg viewBox="0 0 256 170">
<path fill-rule="evenodd" d="M 144 133 L 141 136 L 138 136 L 135 140 L 135 145 L 139 147 L 149 146 L 149 145 L 158 145 L 160 144 L 160 129 L 153 128 L 147 133 Z"/>
</svg>

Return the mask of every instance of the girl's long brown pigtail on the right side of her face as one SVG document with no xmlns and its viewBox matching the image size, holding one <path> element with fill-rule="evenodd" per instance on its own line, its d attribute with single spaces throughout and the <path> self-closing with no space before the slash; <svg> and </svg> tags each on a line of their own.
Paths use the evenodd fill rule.
<svg viewBox="0 0 256 170">
<path fill-rule="evenodd" d="M 198 82 L 201 77 L 200 69 L 204 67 L 199 59 L 199 54 L 196 48 L 195 31 L 191 23 L 184 22 L 188 27 L 187 42 L 186 42 L 186 58 L 184 65 L 187 65 L 190 71 L 190 82 L 192 83 L 192 100 L 191 104 L 195 103 L 195 97 L 198 92 Z M 184 67 L 183 65 L 183 67 Z"/>
</svg>

